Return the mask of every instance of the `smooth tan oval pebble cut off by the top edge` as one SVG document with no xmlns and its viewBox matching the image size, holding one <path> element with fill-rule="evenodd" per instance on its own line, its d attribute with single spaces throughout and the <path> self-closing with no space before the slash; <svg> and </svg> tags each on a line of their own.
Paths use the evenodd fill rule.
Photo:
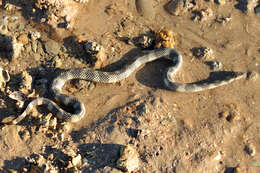
<svg viewBox="0 0 260 173">
<path fill-rule="evenodd" d="M 137 12 L 141 16 L 147 19 L 155 18 L 155 8 L 153 0 L 136 0 L 135 3 Z"/>
</svg>

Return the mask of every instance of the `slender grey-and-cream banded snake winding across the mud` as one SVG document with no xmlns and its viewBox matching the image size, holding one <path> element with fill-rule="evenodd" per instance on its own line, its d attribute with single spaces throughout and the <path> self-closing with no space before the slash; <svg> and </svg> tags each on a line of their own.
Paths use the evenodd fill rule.
<svg viewBox="0 0 260 173">
<path fill-rule="evenodd" d="M 232 72 L 233 75 L 231 77 L 221 80 L 179 83 L 176 82 L 173 77 L 176 72 L 180 70 L 183 64 L 182 56 L 173 48 L 149 50 L 144 55 L 139 55 L 139 57 L 137 57 L 132 63 L 125 65 L 116 71 L 104 72 L 88 68 L 72 68 L 61 72 L 56 78 L 54 78 L 50 85 L 50 91 L 55 101 L 44 97 L 35 98 L 28 104 L 24 112 L 12 121 L 12 124 L 19 123 L 35 106 L 39 105 L 45 105 L 47 109 L 54 113 L 61 121 L 71 123 L 79 122 L 84 118 L 86 108 L 77 98 L 62 93 L 62 88 L 67 81 L 72 79 L 81 79 L 100 83 L 115 83 L 129 77 L 141 65 L 155 61 L 159 58 L 166 58 L 171 62 L 170 66 L 165 69 L 165 72 L 162 75 L 166 89 L 171 91 L 199 92 L 226 85 L 246 76 L 246 73 L 244 72 Z M 72 108 L 73 110 L 65 111 L 58 104 L 63 107 Z"/>
</svg>

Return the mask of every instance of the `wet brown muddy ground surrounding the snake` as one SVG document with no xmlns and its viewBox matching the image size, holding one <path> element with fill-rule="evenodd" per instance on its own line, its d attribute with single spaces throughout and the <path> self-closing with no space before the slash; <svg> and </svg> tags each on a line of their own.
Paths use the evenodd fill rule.
<svg viewBox="0 0 260 173">
<path fill-rule="evenodd" d="M 119 172 L 116 161 L 125 145 L 138 153 L 135 172 L 260 172 L 260 15 L 239 8 L 241 1 L 203 1 L 197 12 L 210 8 L 212 16 L 200 20 L 194 19 L 194 10 L 169 14 L 167 2 L 155 1 L 141 16 L 134 1 L 90 0 L 82 4 L 70 30 L 40 24 L 15 3 L 14 9 L 0 10 L 1 19 L 17 16 L 2 37 L 26 35 L 18 39 L 23 50 L 17 57 L 1 54 L 12 91 L 27 70 L 33 89 L 48 97 L 39 91 L 39 81 L 45 79 L 48 85 L 63 69 L 89 66 L 84 52 L 77 51 L 82 51 L 78 40 L 101 44 L 111 64 L 107 69 L 113 70 L 121 67 L 116 62 L 122 58 L 141 54 L 142 49 L 127 40 L 165 28 L 177 33 L 176 49 L 184 58 L 178 81 L 202 80 L 213 71 L 205 59 L 192 54 L 192 48 L 201 46 L 212 50 L 210 60 L 222 63 L 220 71 L 248 73 L 246 79 L 216 89 L 177 93 L 163 86 L 167 62 L 158 60 L 116 84 L 70 83 L 64 92 L 84 102 L 85 118 L 46 126 L 37 118 L 48 116 L 43 106 L 18 125 L 1 125 L 1 172 Z M 31 31 L 41 33 L 35 50 Z M 3 121 L 22 112 L 6 89 L 0 96 Z M 80 164 L 71 165 L 78 155 Z"/>
</svg>

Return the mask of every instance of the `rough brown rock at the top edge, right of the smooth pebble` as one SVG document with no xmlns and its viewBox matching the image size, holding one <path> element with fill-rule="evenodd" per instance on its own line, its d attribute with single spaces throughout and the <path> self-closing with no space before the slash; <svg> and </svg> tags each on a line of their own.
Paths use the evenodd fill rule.
<svg viewBox="0 0 260 173">
<path fill-rule="evenodd" d="M 166 10 L 175 16 L 180 15 L 185 10 L 184 0 L 172 0 L 166 5 Z"/>
</svg>

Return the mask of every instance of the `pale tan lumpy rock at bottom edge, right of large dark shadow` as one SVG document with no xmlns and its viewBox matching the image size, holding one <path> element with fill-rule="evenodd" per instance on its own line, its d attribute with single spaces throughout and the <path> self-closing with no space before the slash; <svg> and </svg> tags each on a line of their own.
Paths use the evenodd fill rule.
<svg viewBox="0 0 260 173">
<path fill-rule="evenodd" d="M 139 154 L 130 145 L 124 146 L 120 150 L 120 158 L 116 162 L 117 168 L 125 172 L 132 172 L 139 167 Z"/>
</svg>

